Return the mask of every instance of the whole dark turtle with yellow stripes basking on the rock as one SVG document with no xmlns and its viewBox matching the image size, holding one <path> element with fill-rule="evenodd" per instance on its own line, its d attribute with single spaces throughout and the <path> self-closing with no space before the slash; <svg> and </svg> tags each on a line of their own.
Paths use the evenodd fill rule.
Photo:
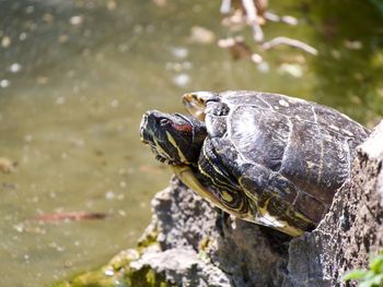
<svg viewBox="0 0 383 287">
<path fill-rule="evenodd" d="M 281 94 L 195 92 L 183 103 L 189 115 L 147 111 L 141 141 L 202 199 L 291 237 L 315 229 L 370 133 Z"/>
</svg>

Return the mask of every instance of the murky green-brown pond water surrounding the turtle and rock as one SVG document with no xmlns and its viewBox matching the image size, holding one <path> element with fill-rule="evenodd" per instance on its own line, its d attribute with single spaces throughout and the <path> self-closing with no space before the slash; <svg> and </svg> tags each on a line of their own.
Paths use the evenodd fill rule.
<svg viewBox="0 0 383 287">
<path fill-rule="evenodd" d="M 171 176 L 140 143 L 141 115 L 184 111 L 183 93 L 282 93 L 370 127 L 383 116 L 374 1 L 270 2 L 299 24 L 269 23 L 265 37 L 299 38 L 318 56 L 281 47 L 259 51 L 260 65 L 233 61 L 216 45 L 233 35 L 220 24 L 219 1 L 0 2 L 0 159 L 16 163 L 0 171 L 1 286 L 49 285 L 135 246 Z M 196 26 L 212 43 L 196 43 Z M 51 217 L 68 213 L 107 216 Z"/>
</svg>

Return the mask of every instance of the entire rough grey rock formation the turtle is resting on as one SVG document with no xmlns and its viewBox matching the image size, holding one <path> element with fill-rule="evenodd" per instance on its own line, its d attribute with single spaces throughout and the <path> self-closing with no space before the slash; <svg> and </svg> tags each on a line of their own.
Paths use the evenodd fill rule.
<svg viewBox="0 0 383 287">
<path fill-rule="evenodd" d="M 223 216 L 177 179 L 156 194 L 153 219 L 130 268 L 150 268 L 170 286 L 339 286 L 383 248 L 383 122 L 358 148 L 351 179 L 313 231 L 291 239 Z"/>
</svg>

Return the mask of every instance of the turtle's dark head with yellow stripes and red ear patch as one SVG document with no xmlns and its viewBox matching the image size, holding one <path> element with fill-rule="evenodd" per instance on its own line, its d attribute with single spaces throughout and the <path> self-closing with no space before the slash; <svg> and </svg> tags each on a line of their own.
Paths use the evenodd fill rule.
<svg viewBox="0 0 383 287">
<path fill-rule="evenodd" d="M 197 163 L 206 135 L 204 122 L 179 113 L 150 110 L 140 124 L 141 141 L 156 159 L 172 165 Z"/>
</svg>

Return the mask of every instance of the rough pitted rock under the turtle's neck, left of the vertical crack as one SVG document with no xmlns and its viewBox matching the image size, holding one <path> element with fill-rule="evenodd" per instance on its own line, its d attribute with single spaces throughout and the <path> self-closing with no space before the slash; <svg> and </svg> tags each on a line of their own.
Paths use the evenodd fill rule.
<svg viewBox="0 0 383 287">
<path fill-rule="evenodd" d="M 141 239 L 156 230 L 159 249 L 151 247 L 135 270 L 150 266 L 176 286 L 279 286 L 287 265 L 287 244 L 267 236 L 277 232 L 225 218 L 176 178 L 152 201 L 153 223 Z M 278 232 L 280 242 L 290 239 Z M 277 239 L 278 241 L 278 239 Z M 148 252 L 150 255 L 148 255 Z M 179 258 L 181 256 L 181 258 Z M 182 261 L 181 263 L 175 263 Z M 160 264 L 161 262 L 161 264 Z M 265 272 L 267 270 L 267 272 Z"/>
</svg>

